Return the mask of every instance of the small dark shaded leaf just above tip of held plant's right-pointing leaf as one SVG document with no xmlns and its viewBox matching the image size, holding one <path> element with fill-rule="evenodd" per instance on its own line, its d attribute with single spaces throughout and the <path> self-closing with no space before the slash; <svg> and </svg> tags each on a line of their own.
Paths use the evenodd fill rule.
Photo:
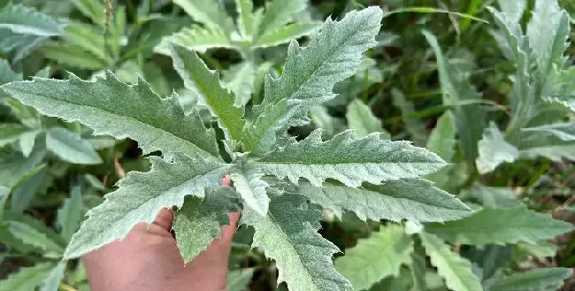
<svg viewBox="0 0 575 291">
<path fill-rule="evenodd" d="M 413 103 L 408 101 L 403 93 L 396 88 L 391 90 L 391 96 L 392 103 L 402 111 L 403 123 L 405 123 L 405 128 L 413 141 L 417 146 L 424 146 L 426 144 L 426 124 L 419 119 L 410 118 L 410 115 L 415 112 Z"/>
</svg>

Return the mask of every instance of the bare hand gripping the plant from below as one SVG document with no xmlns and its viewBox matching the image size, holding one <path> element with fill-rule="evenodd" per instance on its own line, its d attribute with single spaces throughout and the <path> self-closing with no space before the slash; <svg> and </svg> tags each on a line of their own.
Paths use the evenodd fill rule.
<svg viewBox="0 0 575 291">
<path fill-rule="evenodd" d="M 223 180 L 229 185 L 229 178 Z M 149 226 L 138 224 L 123 241 L 83 257 L 92 291 L 226 291 L 227 261 L 240 213 L 219 239 L 184 264 L 173 238 L 173 211 L 163 209 Z"/>
</svg>

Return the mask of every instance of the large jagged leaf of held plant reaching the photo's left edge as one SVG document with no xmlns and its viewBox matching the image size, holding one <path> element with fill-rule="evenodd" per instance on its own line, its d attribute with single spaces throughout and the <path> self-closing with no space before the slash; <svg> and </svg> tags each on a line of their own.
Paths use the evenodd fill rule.
<svg viewBox="0 0 575 291">
<path fill-rule="evenodd" d="M 219 156 L 214 131 L 203 126 L 198 113 L 184 114 L 177 95 L 160 99 L 143 79 L 127 85 L 110 72 L 95 82 L 71 74 L 69 80 L 36 78 L 2 88 L 44 115 L 90 126 L 94 135 L 131 138 L 143 154 L 162 150 Z"/>
</svg>

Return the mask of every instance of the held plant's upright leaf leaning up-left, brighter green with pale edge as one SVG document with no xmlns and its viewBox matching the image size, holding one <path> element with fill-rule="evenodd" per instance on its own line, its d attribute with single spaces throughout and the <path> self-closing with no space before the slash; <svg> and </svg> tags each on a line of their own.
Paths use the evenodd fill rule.
<svg viewBox="0 0 575 291">
<path fill-rule="evenodd" d="M 172 45 L 173 67 L 180 73 L 186 88 L 203 96 L 220 126 L 227 130 L 232 139 L 242 140 L 243 111 L 234 107 L 234 95 L 219 82 L 218 71 L 211 71 L 196 52 L 179 45 Z"/>
</svg>

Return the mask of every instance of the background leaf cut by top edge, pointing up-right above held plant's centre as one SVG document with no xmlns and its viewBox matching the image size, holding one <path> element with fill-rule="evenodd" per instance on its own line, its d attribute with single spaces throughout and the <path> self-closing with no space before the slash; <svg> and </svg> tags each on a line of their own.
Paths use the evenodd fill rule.
<svg viewBox="0 0 575 291">
<path fill-rule="evenodd" d="M 257 36 L 269 34 L 270 31 L 292 21 L 293 15 L 307 8 L 306 0 L 272 0 L 265 6 L 264 18 L 257 27 Z"/>
</svg>

